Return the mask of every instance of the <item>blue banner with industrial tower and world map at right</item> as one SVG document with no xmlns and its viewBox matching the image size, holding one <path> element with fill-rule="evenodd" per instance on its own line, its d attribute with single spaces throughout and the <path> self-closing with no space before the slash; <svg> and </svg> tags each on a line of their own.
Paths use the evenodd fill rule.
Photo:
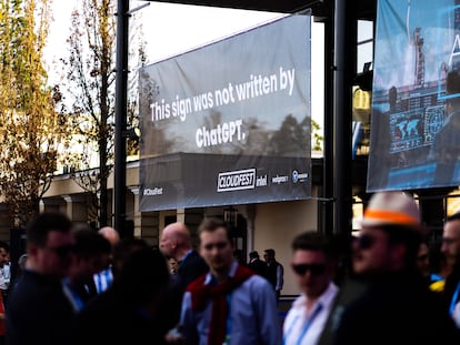
<svg viewBox="0 0 460 345">
<path fill-rule="evenodd" d="M 368 191 L 460 184 L 460 1 L 378 2 Z"/>
</svg>

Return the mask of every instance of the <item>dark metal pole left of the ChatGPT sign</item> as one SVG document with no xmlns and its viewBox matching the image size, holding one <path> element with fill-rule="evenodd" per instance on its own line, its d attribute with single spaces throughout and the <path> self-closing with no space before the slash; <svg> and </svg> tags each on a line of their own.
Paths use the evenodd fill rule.
<svg viewBox="0 0 460 345">
<path fill-rule="evenodd" d="M 114 128 L 114 229 L 124 234 L 127 189 L 128 14 L 129 0 L 118 0 Z"/>
</svg>

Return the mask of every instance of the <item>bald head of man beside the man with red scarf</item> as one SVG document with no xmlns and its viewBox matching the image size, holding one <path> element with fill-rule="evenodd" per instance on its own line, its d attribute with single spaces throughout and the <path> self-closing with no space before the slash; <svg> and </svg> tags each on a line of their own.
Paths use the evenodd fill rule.
<svg viewBox="0 0 460 345">
<path fill-rule="evenodd" d="M 160 250 L 164 256 L 181 261 L 191 248 L 190 232 L 186 224 L 176 222 L 163 229 L 160 239 Z"/>
</svg>

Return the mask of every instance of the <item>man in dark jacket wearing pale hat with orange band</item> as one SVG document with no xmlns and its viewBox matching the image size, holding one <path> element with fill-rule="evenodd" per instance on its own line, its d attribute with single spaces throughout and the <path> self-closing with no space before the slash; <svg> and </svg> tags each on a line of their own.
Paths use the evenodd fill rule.
<svg viewBox="0 0 460 345">
<path fill-rule="evenodd" d="M 352 268 L 319 344 L 460 344 L 460 331 L 417 270 L 423 236 L 417 203 L 401 192 L 372 195 Z"/>
</svg>

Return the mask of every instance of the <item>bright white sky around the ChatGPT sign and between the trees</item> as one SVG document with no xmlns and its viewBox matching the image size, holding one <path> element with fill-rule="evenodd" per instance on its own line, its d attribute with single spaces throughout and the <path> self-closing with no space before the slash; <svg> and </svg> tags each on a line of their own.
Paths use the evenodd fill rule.
<svg viewBox="0 0 460 345">
<path fill-rule="evenodd" d="M 66 39 L 70 32 L 70 14 L 79 0 L 53 0 L 46 60 L 50 81 L 58 80 L 59 59 L 69 55 Z M 281 13 L 174 4 L 156 1 L 131 1 L 130 20 L 140 20 L 147 41 L 148 62 L 153 63 L 237 32 L 280 18 Z M 321 38 L 321 39 L 318 39 Z M 312 116 L 322 128 L 323 49 L 322 26 L 312 26 Z"/>
</svg>

